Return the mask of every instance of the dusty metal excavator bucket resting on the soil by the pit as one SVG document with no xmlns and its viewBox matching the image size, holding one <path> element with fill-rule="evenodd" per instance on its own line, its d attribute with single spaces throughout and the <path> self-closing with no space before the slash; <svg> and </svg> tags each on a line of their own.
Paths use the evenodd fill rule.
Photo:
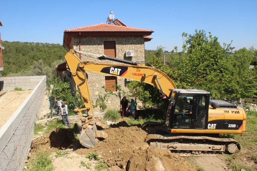
<svg viewBox="0 0 257 171">
<path fill-rule="evenodd" d="M 96 125 L 88 126 L 86 129 L 82 128 L 79 141 L 80 144 L 87 148 L 94 147 L 98 144 L 98 142 L 95 139 L 95 131 L 97 130 Z"/>
</svg>

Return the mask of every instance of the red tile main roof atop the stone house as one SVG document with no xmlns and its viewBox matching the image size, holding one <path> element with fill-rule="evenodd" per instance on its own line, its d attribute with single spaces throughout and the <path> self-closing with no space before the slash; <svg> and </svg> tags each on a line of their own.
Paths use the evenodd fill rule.
<svg viewBox="0 0 257 171">
<path fill-rule="evenodd" d="M 128 32 L 129 31 L 151 31 L 153 32 L 153 30 L 148 30 L 148 29 L 139 29 L 135 27 L 118 26 L 118 25 L 106 24 L 106 23 L 77 27 L 74 29 L 67 29 L 65 31 L 128 31 Z"/>
</svg>

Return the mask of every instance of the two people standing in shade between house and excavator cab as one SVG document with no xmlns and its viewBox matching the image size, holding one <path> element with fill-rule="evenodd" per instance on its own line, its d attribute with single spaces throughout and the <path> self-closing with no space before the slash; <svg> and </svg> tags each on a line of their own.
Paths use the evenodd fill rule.
<svg viewBox="0 0 257 171">
<path fill-rule="evenodd" d="M 130 106 L 128 106 L 128 103 L 130 103 Z M 124 117 L 126 115 L 126 110 L 130 107 L 128 111 L 132 113 L 133 118 L 137 118 L 138 116 L 136 116 L 136 105 L 137 105 L 137 102 L 135 102 L 134 99 L 131 99 L 131 101 L 128 101 L 127 97 L 124 96 L 121 100 L 121 110 L 122 110 L 121 116 Z"/>
</svg>

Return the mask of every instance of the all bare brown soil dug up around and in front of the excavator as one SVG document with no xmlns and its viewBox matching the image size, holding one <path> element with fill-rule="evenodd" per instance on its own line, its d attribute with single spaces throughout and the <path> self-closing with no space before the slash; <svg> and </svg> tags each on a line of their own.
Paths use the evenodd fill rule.
<svg viewBox="0 0 257 171">
<path fill-rule="evenodd" d="M 213 154 L 211 156 L 184 158 L 180 157 L 179 154 L 171 153 L 169 150 L 150 147 L 144 142 L 147 133 L 139 125 L 128 126 L 127 120 L 128 118 L 120 119 L 117 124 L 110 128 L 102 129 L 108 134 L 108 137 L 104 140 L 98 140 L 99 143 L 91 149 L 85 148 L 75 139 L 71 128 L 61 128 L 49 131 L 42 137 L 33 140 L 31 153 L 38 149 L 49 150 L 52 153 L 59 150 L 71 150 L 69 152 L 70 158 L 63 157 L 60 160 L 72 167 L 58 165 L 59 161 L 56 160 L 59 159 L 53 157 L 52 161 L 56 170 L 70 170 L 73 167 L 81 169 L 82 167 L 78 168 L 80 159 L 84 159 L 86 155 L 93 152 L 99 155 L 110 170 L 197 170 L 194 165 L 201 166 L 204 170 L 232 170 L 228 169 L 228 166 L 233 163 L 233 158 L 237 159 L 236 162 L 242 166 L 257 170 L 253 161 L 253 155 L 257 152 L 256 148 L 251 145 L 240 142 L 241 151 L 232 155 Z M 101 123 L 100 120 L 99 122 Z M 98 129 L 100 128 L 98 127 Z M 254 137 L 249 136 L 248 138 Z M 236 139 L 238 138 L 236 137 Z M 228 157 L 232 160 L 228 160 Z M 94 160 L 88 162 L 92 162 L 92 166 L 96 164 Z M 92 170 L 94 170 L 93 167 Z"/>
</svg>

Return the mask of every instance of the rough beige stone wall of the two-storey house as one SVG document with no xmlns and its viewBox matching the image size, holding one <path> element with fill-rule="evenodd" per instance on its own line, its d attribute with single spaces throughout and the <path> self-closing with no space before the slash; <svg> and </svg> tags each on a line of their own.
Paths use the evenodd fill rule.
<svg viewBox="0 0 257 171">
<path fill-rule="evenodd" d="M 116 43 L 116 58 L 129 60 L 129 61 L 144 61 L 144 38 L 143 36 L 83 36 L 80 38 L 81 51 L 89 52 L 93 54 L 104 54 L 104 41 L 115 41 Z M 71 48 L 79 50 L 79 37 L 73 37 Z M 126 57 L 126 51 L 133 50 L 134 57 Z M 85 55 L 81 55 L 82 61 L 93 61 L 102 63 L 118 63 L 108 60 L 98 60 L 90 58 Z M 98 93 L 104 94 L 105 90 L 101 88 L 105 86 L 105 74 L 87 72 L 88 84 L 90 88 L 91 99 L 95 102 L 98 98 Z M 128 81 L 123 78 L 117 78 L 117 84 L 121 86 L 121 89 L 127 91 L 126 84 Z M 117 94 L 117 93 L 116 93 Z M 122 94 L 123 97 L 123 94 Z M 108 98 L 107 108 L 119 108 L 120 98 L 112 95 Z M 99 111 L 99 107 L 94 111 Z"/>
</svg>

